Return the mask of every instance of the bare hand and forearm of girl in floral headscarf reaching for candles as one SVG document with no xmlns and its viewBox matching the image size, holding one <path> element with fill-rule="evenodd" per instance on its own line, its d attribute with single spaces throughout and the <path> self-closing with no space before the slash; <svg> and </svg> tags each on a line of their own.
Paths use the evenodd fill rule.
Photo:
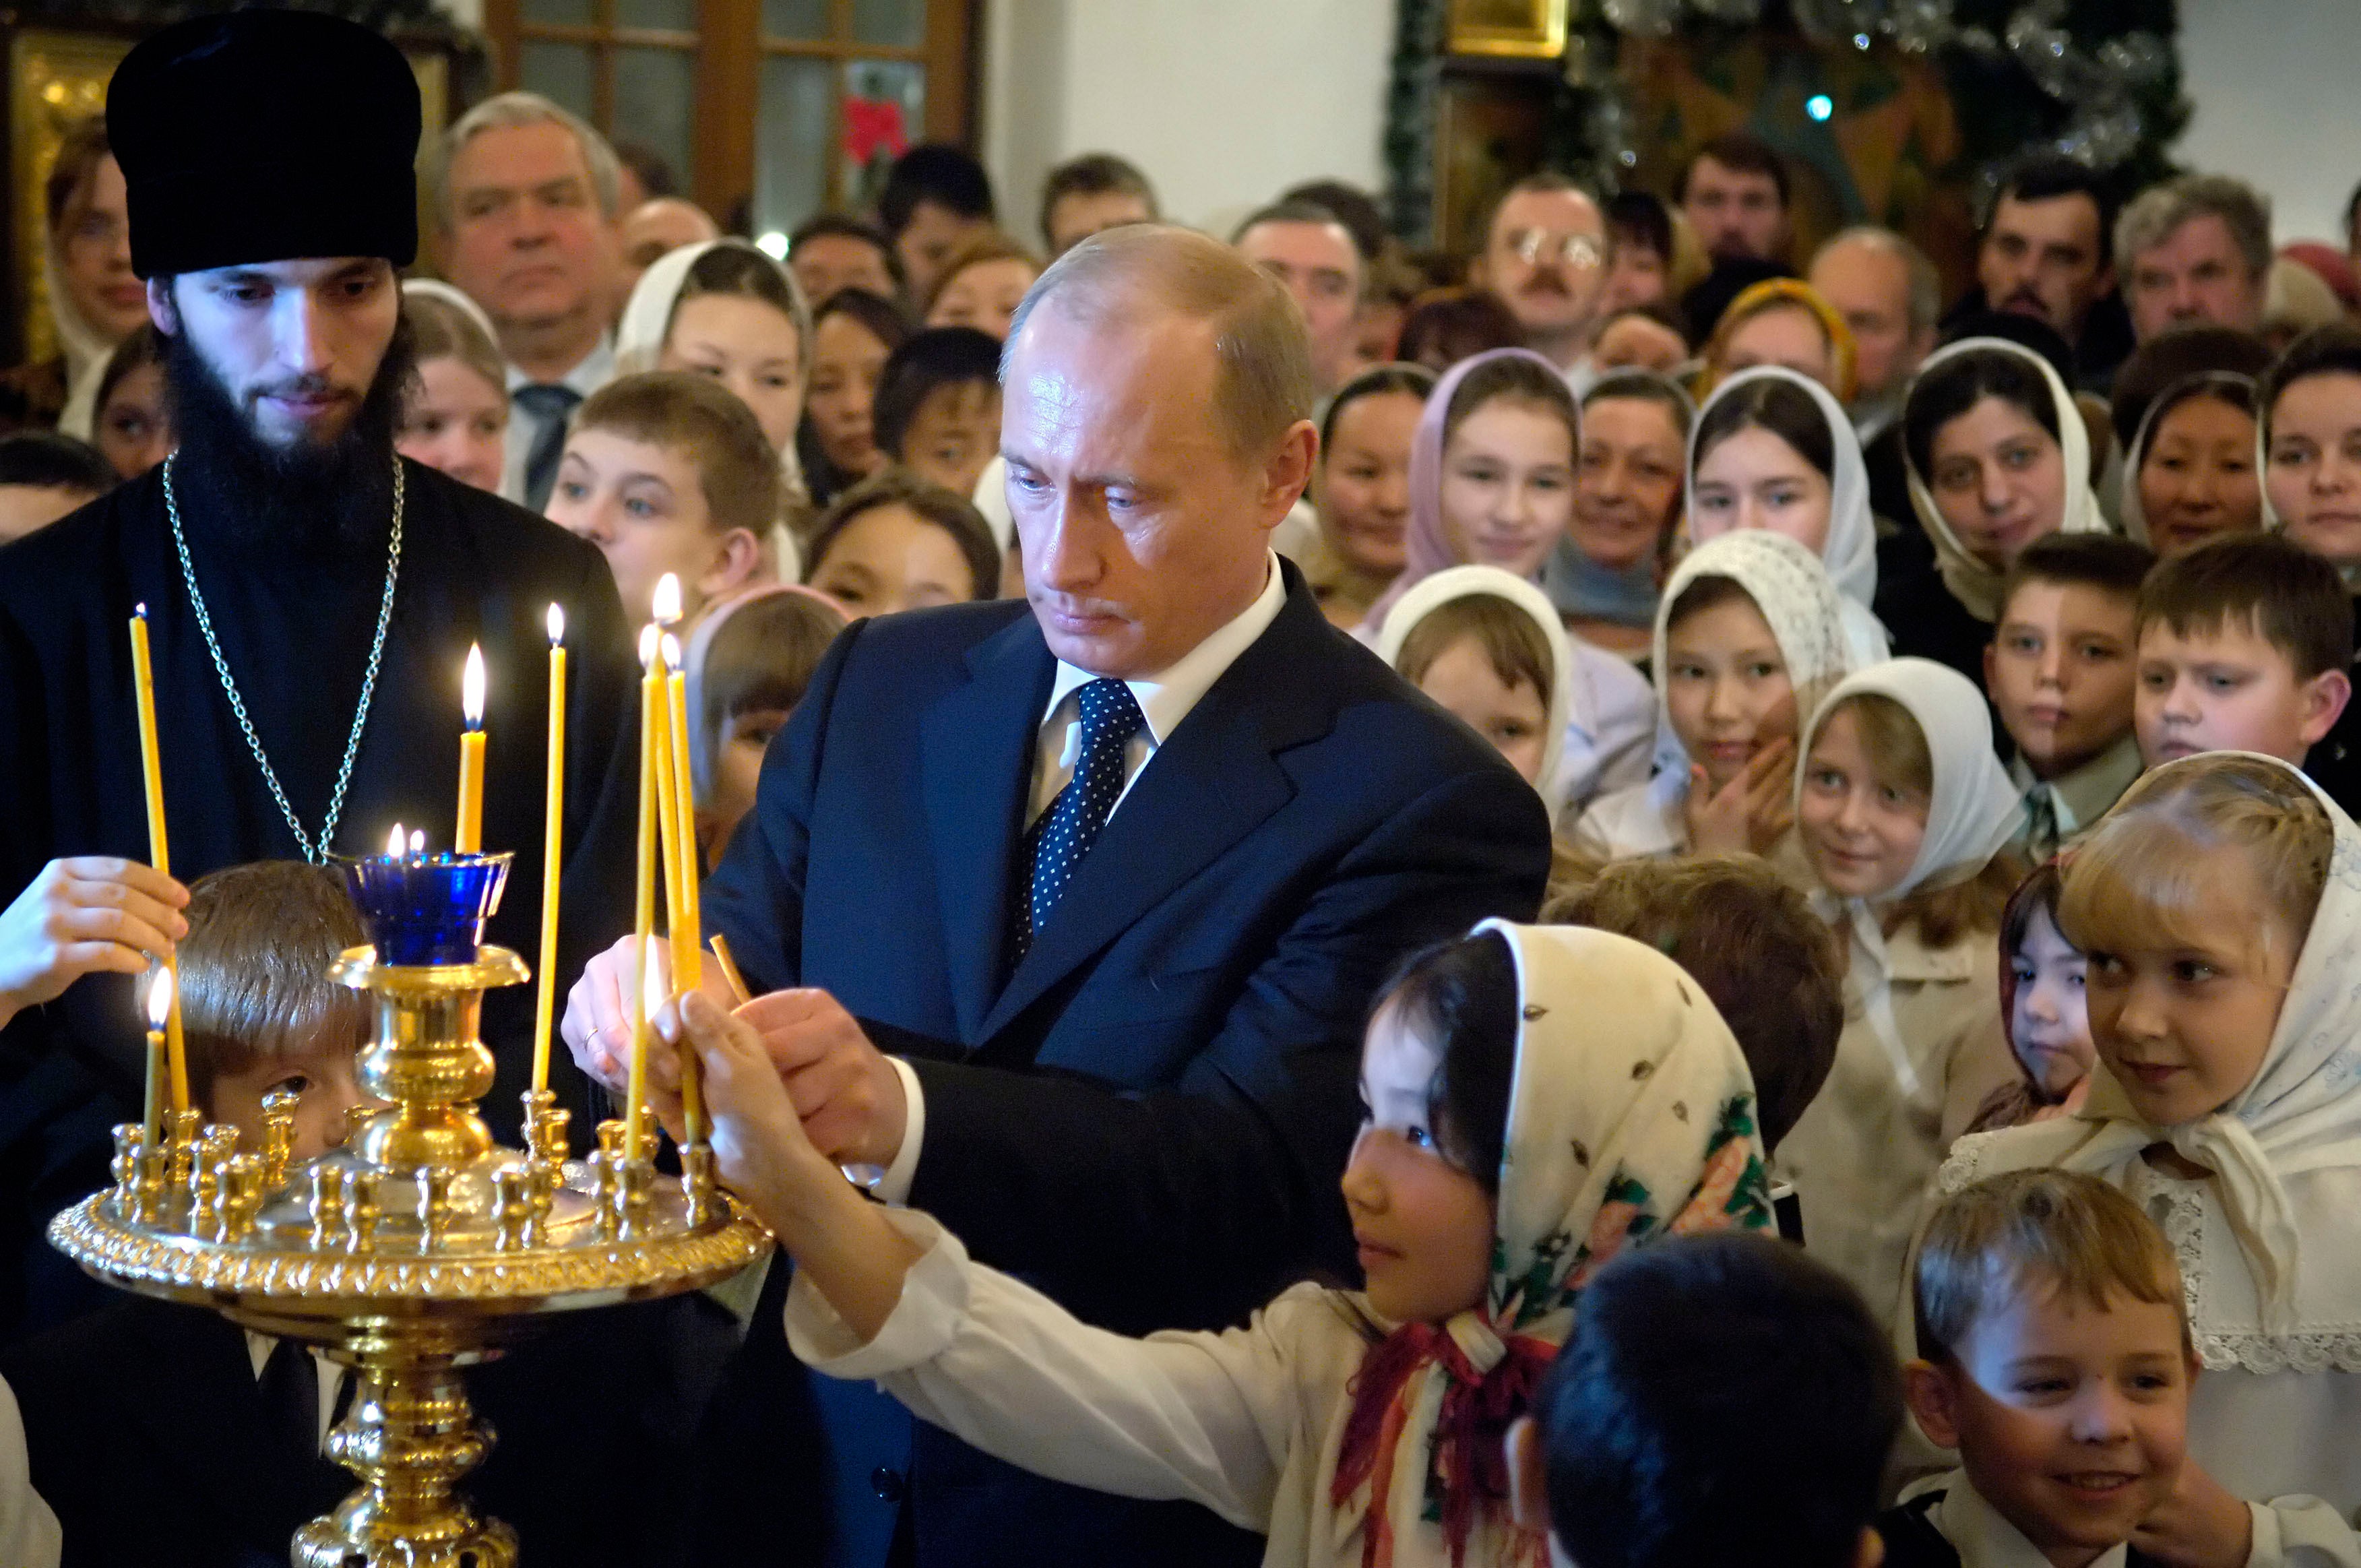
<svg viewBox="0 0 2361 1568">
<path fill-rule="evenodd" d="M 687 1039 L 704 1063 L 722 1181 L 753 1204 L 845 1327 L 876 1339 L 918 1247 L 812 1148 L 753 1025 L 689 992 L 656 1013 L 656 1032 L 675 1046 Z M 666 1126 L 678 1129 L 678 1096 L 659 1103 Z"/>
</svg>

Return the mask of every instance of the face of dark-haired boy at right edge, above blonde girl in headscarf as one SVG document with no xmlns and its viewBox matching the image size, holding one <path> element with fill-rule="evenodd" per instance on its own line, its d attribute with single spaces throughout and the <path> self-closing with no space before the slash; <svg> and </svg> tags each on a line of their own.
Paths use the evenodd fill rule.
<svg viewBox="0 0 2361 1568">
<path fill-rule="evenodd" d="M 2288 654 L 2250 621 L 2222 616 L 2189 635 L 2149 621 L 2132 697 L 2139 760 L 2160 767 L 2198 751 L 2259 751 L 2302 767 L 2349 692 L 2342 671 L 2297 680 Z"/>
</svg>

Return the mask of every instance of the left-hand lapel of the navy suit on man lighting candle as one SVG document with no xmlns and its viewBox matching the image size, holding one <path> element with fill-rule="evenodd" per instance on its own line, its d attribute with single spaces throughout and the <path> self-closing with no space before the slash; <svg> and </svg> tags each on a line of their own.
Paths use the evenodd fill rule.
<svg viewBox="0 0 2361 1568">
<path fill-rule="evenodd" d="M 959 1037 L 970 1046 L 982 1039 L 1001 978 L 1015 850 L 1055 668 L 1041 628 L 1025 614 L 968 654 L 968 682 L 935 699 L 921 720 L 918 767 L 951 1004 Z"/>
</svg>

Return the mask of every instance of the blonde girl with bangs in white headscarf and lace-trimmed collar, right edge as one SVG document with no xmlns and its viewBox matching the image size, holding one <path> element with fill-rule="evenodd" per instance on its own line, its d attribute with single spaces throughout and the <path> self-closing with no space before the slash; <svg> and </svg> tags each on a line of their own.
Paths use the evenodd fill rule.
<svg viewBox="0 0 2361 1568">
<path fill-rule="evenodd" d="M 1962 1138 L 1941 1185 L 2064 1167 L 2130 1193 L 2172 1240 L 2205 1363 L 2189 1457 L 2219 1485 L 2184 1497 L 2304 1492 L 2352 1518 L 2361 829 L 2276 758 L 2182 758 L 2075 852 L 2059 923 L 2089 954 L 2089 1096 Z"/>
</svg>

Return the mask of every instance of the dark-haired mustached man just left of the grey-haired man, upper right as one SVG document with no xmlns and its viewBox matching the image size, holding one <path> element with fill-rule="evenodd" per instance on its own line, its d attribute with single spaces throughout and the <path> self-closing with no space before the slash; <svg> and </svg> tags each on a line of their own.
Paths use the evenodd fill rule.
<svg viewBox="0 0 2361 1568">
<path fill-rule="evenodd" d="M 1953 309 L 2009 309 L 2073 345 L 2075 383 L 2104 390 L 2132 352 L 2132 324 L 2115 298 L 2108 250 L 2115 201 L 2089 168 L 2073 158 L 2035 156 L 2019 163 L 1993 196 L 1993 215 L 1976 248 L 1976 283 Z"/>
</svg>

